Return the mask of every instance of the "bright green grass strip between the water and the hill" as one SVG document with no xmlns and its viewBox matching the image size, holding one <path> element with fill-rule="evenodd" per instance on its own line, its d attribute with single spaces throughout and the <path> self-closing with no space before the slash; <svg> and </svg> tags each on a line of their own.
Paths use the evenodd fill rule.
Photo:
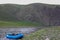
<svg viewBox="0 0 60 40">
<path fill-rule="evenodd" d="M 28 21 L 19 21 L 19 22 L 10 22 L 10 21 L 0 21 L 0 27 L 2 26 L 41 26 L 41 23 L 37 22 L 28 22 Z"/>
</svg>

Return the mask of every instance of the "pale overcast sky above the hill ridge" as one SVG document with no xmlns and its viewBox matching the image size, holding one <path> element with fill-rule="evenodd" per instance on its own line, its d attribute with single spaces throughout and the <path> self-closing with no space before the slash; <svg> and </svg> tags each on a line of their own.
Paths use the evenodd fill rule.
<svg viewBox="0 0 60 40">
<path fill-rule="evenodd" d="M 30 3 L 47 3 L 60 4 L 60 0 L 0 0 L 0 4 L 15 3 L 15 4 L 30 4 Z"/>
</svg>

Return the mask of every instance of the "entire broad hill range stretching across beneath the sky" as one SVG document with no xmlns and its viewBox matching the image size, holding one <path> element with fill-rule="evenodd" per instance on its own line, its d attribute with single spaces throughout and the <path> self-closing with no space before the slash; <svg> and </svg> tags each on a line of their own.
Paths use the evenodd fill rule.
<svg viewBox="0 0 60 40">
<path fill-rule="evenodd" d="M 0 20 L 42 22 L 60 26 L 60 5 L 32 3 L 29 5 L 0 4 Z"/>
</svg>

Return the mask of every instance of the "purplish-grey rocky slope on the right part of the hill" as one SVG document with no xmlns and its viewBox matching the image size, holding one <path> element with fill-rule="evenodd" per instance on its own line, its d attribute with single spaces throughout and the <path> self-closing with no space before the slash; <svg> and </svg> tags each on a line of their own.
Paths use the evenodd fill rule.
<svg viewBox="0 0 60 40">
<path fill-rule="evenodd" d="M 32 4 L 21 10 L 19 20 L 42 22 L 46 25 L 60 25 L 60 7 L 56 5 Z"/>
</svg>

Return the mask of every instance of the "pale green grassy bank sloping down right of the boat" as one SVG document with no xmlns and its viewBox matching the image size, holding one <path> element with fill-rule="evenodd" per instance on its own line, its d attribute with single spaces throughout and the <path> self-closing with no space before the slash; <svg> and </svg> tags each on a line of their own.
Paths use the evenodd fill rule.
<svg viewBox="0 0 60 40">
<path fill-rule="evenodd" d="M 23 40 L 45 40 L 46 37 L 50 40 L 60 40 L 60 27 L 41 29 L 35 33 L 25 36 Z"/>
</svg>

